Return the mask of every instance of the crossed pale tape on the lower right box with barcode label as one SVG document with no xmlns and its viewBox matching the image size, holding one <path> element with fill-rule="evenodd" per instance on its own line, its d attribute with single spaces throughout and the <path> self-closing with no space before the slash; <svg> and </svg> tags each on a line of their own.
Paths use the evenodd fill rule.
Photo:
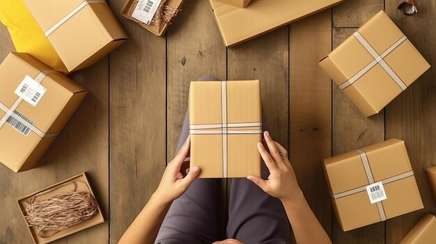
<svg viewBox="0 0 436 244">
<path fill-rule="evenodd" d="M 362 161 L 362 163 L 364 165 L 364 170 L 365 170 L 365 173 L 366 173 L 366 178 L 368 179 L 368 183 L 369 183 L 368 185 L 374 184 L 375 181 L 374 181 L 374 177 L 373 177 L 373 172 L 371 171 L 371 166 L 369 165 L 368 156 L 366 155 L 366 152 L 364 152 L 364 151 L 362 151 L 360 149 L 356 149 L 355 151 L 359 154 L 359 156 L 361 158 L 361 161 Z M 414 175 L 413 170 L 410 170 L 410 171 L 404 172 L 403 174 L 398 174 L 398 175 L 396 175 L 394 177 L 389 177 L 387 179 L 384 179 L 384 180 L 382 180 L 382 184 L 388 184 L 388 183 L 391 183 L 391 182 L 394 182 L 394 181 L 398 181 L 400 179 L 405 179 L 407 177 L 411 177 L 412 175 Z M 347 190 L 347 191 L 345 191 L 343 193 L 333 194 L 332 196 L 333 196 L 334 199 L 338 199 L 338 198 L 341 198 L 341 197 L 346 197 L 348 195 L 353 195 L 353 194 L 356 194 L 356 193 L 360 193 L 362 191 L 366 191 L 366 186 L 361 186 L 359 188 L 355 188 L 355 189 L 352 189 L 352 190 Z M 378 210 L 378 213 L 380 215 L 380 219 L 382 221 L 386 220 L 387 219 L 386 218 L 386 213 L 384 213 L 382 202 L 376 202 L 375 204 L 377 205 L 377 210 Z"/>
</svg>

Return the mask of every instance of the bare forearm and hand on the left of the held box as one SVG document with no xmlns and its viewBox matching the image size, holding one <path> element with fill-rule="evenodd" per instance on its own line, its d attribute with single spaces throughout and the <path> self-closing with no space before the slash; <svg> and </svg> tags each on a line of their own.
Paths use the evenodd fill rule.
<svg viewBox="0 0 436 244">
<path fill-rule="evenodd" d="M 183 177 L 180 172 L 182 163 L 189 153 L 190 143 L 188 138 L 177 156 L 166 166 L 157 190 L 125 231 L 118 244 L 154 243 L 169 206 L 173 200 L 185 193 L 200 172 L 197 167 L 189 171 L 186 177 Z"/>
</svg>

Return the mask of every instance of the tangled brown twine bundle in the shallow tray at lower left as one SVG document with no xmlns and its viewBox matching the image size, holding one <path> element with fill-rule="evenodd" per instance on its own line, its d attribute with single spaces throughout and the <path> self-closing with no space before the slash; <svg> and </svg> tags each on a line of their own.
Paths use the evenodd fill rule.
<svg viewBox="0 0 436 244">
<path fill-rule="evenodd" d="M 38 236 L 42 238 L 53 236 L 57 232 L 72 225 L 77 225 L 97 213 L 98 205 L 95 198 L 90 193 L 76 192 L 77 182 L 85 184 L 83 181 L 73 181 L 31 197 L 30 205 L 25 210 L 25 218 L 29 227 L 37 227 Z M 35 201 L 39 195 L 70 184 L 74 184 L 74 190 L 54 194 L 47 200 Z M 49 231 L 50 234 L 47 233 Z"/>
</svg>

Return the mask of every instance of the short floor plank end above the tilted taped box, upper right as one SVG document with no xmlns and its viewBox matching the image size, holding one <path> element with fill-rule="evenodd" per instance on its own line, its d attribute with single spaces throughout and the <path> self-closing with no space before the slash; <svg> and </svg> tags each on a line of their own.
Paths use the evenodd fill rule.
<svg viewBox="0 0 436 244">
<path fill-rule="evenodd" d="M 333 26 L 358 28 L 384 8 L 384 0 L 348 0 L 333 8 Z"/>
</svg>

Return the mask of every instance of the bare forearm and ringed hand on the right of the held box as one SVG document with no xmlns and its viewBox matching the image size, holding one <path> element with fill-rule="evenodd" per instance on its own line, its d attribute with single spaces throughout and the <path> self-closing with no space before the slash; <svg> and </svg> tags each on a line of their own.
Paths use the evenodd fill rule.
<svg viewBox="0 0 436 244">
<path fill-rule="evenodd" d="M 268 131 L 264 137 L 270 152 L 262 143 L 258 143 L 258 150 L 270 170 L 270 177 L 267 180 L 256 176 L 247 178 L 265 193 L 281 200 L 297 243 L 332 243 L 307 204 L 288 157 L 280 156 L 280 152 L 286 153 L 286 149 L 272 140 Z"/>
</svg>

